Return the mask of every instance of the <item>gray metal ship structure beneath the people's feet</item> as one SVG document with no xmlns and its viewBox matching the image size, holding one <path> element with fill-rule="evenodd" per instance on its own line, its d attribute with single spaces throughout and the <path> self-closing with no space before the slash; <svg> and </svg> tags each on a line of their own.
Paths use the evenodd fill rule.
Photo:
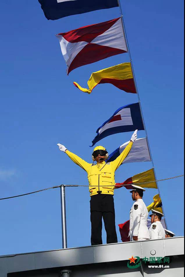
<svg viewBox="0 0 185 277">
<path fill-rule="evenodd" d="M 170 268 L 127 267 L 132 256 L 170 257 Z M 0 277 L 184 276 L 184 237 L 0 256 Z"/>
</svg>

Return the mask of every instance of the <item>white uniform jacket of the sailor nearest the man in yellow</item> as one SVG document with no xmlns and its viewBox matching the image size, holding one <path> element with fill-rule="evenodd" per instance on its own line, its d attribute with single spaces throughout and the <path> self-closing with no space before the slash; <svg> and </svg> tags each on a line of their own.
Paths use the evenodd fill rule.
<svg viewBox="0 0 185 277">
<path fill-rule="evenodd" d="M 150 232 L 147 227 L 148 210 L 143 199 L 134 202 L 130 210 L 130 240 L 133 236 L 138 239 L 150 239 Z"/>
</svg>

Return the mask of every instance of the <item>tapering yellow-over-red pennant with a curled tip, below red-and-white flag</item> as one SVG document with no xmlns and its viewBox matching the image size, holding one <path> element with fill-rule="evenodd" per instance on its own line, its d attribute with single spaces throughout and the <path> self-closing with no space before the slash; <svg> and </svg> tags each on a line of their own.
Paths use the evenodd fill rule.
<svg viewBox="0 0 185 277">
<path fill-rule="evenodd" d="M 90 94 L 93 88 L 98 84 L 105 83 L 110 83 L 125 92 L 136 93 L 130 62 L 93 72 L 87 82 L 89 89 L 81 87 L 76 82 L 73 83 L 79 90 L 87 92 L 88 94 Z"/>
</svg>

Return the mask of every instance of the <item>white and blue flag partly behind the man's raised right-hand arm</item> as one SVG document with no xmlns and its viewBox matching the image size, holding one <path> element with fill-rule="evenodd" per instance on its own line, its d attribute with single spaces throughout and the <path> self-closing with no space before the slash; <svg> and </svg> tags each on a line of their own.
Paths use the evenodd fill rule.
<svg viewBox="0 0 185 277">
<path fill-rule="evenodd" d="M 130 141 L 125 142 L 119 148 L 117 148 L 114 152 L 112 152 L 106 162 L 114 161 L 126 148 Z M 134 141 L 132 148 L 124 159 L 122 164 L 126 164 L 129 162 L 151 162 L 150 152 L 147 144 L 146 138 L 138 138 Z"/>
</svg>

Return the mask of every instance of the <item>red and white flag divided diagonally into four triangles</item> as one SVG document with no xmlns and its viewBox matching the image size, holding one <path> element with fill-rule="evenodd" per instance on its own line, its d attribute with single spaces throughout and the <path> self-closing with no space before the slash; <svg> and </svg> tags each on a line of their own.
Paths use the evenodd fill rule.
<svg viewBox="0 0 185 277">
<path fill-rule="evenodd" d="M 77 67 L 128 52 L 120 17 L 56 36 L 67 64 L 67 75 Z"/>
</svg>

